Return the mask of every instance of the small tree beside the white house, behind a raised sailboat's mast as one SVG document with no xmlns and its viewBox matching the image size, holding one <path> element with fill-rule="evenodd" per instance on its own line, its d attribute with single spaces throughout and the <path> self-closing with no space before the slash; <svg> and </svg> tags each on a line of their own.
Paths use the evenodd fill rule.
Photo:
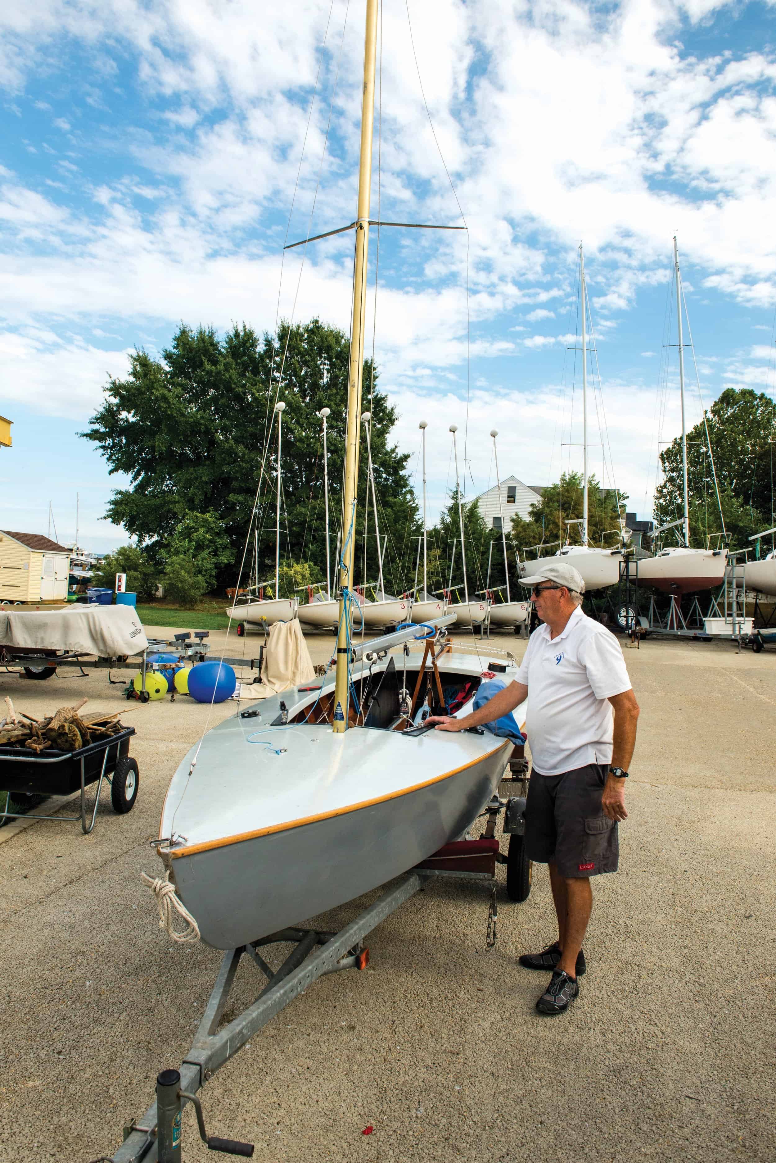
<svg viewBox="0 0 776 1163">
<path fill-rule="evenodd" d="M 618 508 L 619 495 L 619 508 Z M 588 479 L 588 542 L 608 549 L 620 543 L 620 519 L 625 516 L 627 493 L 615 493 L 613 488 L 602 488 L 595 476 Z M 518 514 L 512 518 L 512 538 L 517 549 L 547 545 L 547 552 L 558 549 L 558 542 L 568 540 L 580 544 L 581 526 L 577 522 L 583 511 L 582 475 L 562 473 L 560 480 L 548 485 L 530 511 L 527 521 Z M 532 556 L 536 550 L 532 550 Z"/>
</svg>

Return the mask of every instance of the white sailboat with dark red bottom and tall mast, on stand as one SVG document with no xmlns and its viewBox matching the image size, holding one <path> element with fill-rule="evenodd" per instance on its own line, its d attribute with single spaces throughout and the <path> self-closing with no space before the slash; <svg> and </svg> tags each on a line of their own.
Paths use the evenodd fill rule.
<svg viewBox="0 0 776 1163">
<path fill-rule="evenodd" d="M 676 272 L 676 326 L 678 342 L 680 394 L 682 400 L 682 500 L 683 514 L 677 521 L 668 521 L 654 530 L 654 535 L 667 529 L 682 529 L 682 543 L 663 549 L 655 557 L 639 562 L 639 584 L 646 583 L 662 590 L 675 599 L 671 602 L 669 626 L 683 622 L 676 601 L 683 593 L 712 590 L 723 584 L 727 565 L 726 549 L 694 549 L 690 545 L 690 501 L 687 468 L 687 422 L 684 415 L 684 343 L 682 334 L 682 274 L 678 262 L 678 244 L 674 237 L 674 267 Z"/>
</svg>

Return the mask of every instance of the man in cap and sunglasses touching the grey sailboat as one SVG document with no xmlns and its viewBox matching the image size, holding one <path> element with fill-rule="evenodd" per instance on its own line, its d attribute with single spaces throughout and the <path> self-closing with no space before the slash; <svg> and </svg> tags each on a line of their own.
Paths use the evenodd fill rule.
<svg viewBox="0 0 776 1163">
<path fill-rule="evenodd" d="M 579 994 L 577 977 L 587 968 L 582 941 L 592 909 L 590 877 L 617 871 L 617 826 L 627 818 L 624 790 L 639 706 L 619 643 L 580 608 L 584 582 L 579 571 L 551 558 L 520 584 L 532 587 L 544 625 L 531 635 L 517 680 L 470 715 L 436 722 L 438 730 L 464 730 L 498 719 L 527 697 L 533 766 L 525 850 L 549 865 L 558 941 L 523 954 L 519 963 L 552 970 L 537 1009 L 559 1014 Z"/>
</svg>

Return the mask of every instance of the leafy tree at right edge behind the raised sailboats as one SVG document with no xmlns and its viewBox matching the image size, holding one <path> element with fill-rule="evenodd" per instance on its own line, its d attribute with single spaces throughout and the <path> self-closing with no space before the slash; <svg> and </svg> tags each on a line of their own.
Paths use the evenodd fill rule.
<svg viewBox="0 0 776 1163">
<path fill-rule="evenodd" d="M 771 520 L 776 404 L 764 392 L 731 387 L 714 400 L 705 421 L 687 436 L 690 541 L 705 545 L 711 536 L 716 543 L 714 535 L 723 530 L 711 445 L 730 544 L 732 549 L 745 548 L 750 534 L 776 523 Z M 662 480 L 655 490 L 655 521 L 662 525 L 678 520 L 683 512 L 681 437 L 661 454 L 660 463 Z"/>
</svg>

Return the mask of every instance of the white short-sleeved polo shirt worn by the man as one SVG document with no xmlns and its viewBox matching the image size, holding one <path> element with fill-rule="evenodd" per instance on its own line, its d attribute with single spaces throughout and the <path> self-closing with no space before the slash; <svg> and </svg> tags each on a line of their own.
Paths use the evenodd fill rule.
<svg viewBox="0 0 776 1163">
<path fill-rule="evenodd" d="M 529 688 L 525 726 L 537 772 L 611 763 L 612 694 L 631 690 L 615 635 L 576 607 L 556 638 L 541 625 L 517 672 Z"/>
</svg>

